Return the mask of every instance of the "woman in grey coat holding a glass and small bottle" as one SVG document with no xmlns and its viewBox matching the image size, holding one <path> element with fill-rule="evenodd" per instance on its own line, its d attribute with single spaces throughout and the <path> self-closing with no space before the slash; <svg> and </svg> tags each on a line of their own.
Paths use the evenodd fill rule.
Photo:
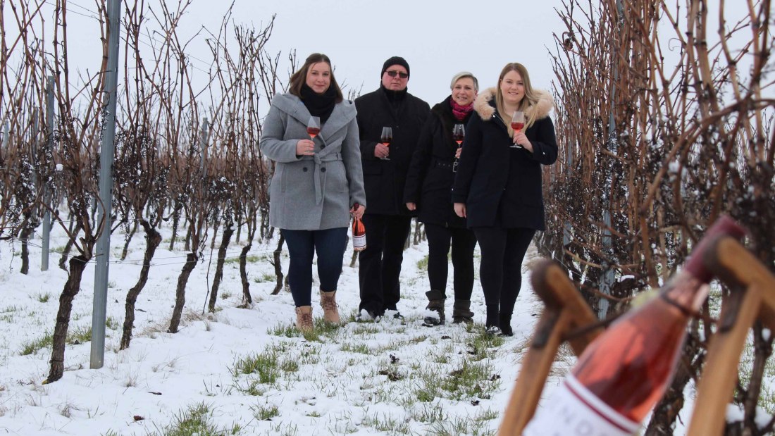
<svg viewBox="0 0 775 436">
<path fill-rule="evenodd" d="M 350 215 L 366 210 L 355 105 L 343 98 L 331 60 L 307 57 L 291 76 L 287 94 L 277 94 L 263 122 L 260 148 L 274 160 L 269 223 L 280 228 L 291 263 L 288 282 L 296 304 L 296 327 L 312 324 L 312 258 L 318 254 L 323 318 L 339 322 L 336 285 L 342 273 Z M 311 116 L 320 132 L 309 139 Z"/>
</svg>

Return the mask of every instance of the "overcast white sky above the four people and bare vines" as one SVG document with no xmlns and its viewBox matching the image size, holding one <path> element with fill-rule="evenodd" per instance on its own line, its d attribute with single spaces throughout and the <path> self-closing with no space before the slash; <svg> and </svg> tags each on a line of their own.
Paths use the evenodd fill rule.
<svg viewBox="0 0 775 436">
<path fill-rule="evenodd" d="M 146 3 L 157 6 L 159 1 Z M 181 36 L 202 26 L 216 32 L 230 4 L 193 0 Z M 102 56 L 98 22 L 89 18 L 95 16 L 95 4 L 68 0 L 67 5 L 70 57 L 77 68 L 95 71 Z M 258 28 L 277 14 L 270 50 L 295 49 L 302 61 L 309 53 L 325 53 L 337 80 L 354 88 L 363 84 L 364 93 L 379 85 L 384 60 L 405 57 L 411 68 L 409 91 L 432 105 L 449 94 L 449 80 L 458 71 L 470 70 L 487 87 L 513 61 L 528 67 L 534 87 L 548 89 L 553 73 L 546 47 L 554 46 L 552 32 L 562 31 L 554 8 L 562 8 L 560 0 L 236 0 L 234 21 Z M 49 26 L 52 12 L 53 4 L 47 5 Z M 208 59 L 204 36 L 190 47 L 195 57 Z M 193 62 L 207 70 L 208 64 Z"/>
</svg>

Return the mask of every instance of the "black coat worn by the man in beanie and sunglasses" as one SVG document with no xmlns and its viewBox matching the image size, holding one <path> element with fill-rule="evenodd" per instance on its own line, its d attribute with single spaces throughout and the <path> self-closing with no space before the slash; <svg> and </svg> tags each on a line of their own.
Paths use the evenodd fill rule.
<svg viewBox="0 0 775 436">
<path fill-rule="evenodd" d="M 380 86 L 377 91 L 355 100 L 360 131 L 360 160 L 363 163 L 363 184 L 366 188 L 367 214 L 415 216 L 404 203 L 404 186 L 409 163 L 417 146 L 422 125 L 430 106 L 408 92 L 398 110 Z M 383 127 L 393 129 L 390 160 L 374 157 L 374 147 L 380 142 Z"/>
</svg>

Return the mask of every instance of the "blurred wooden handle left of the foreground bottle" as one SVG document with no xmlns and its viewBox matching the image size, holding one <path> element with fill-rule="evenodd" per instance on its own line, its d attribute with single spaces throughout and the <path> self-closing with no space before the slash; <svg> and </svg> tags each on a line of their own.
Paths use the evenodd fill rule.
<svg viewBox="0 0 775 436">
<path fill-rule="evenodd" d="M 598 321 L 557 263 L 551 260 L 539 263 L 533 269 L 531 282 L 546 308 L 536 325 L 530 348 L 522 359 L 522 369 L 498 431 L 501 435 L 522 434 L 522 429 L 536 412 L 557 348 L 564 342 L 567 332 Z M 602 328 L 595 328 L 570 338 L 570 348 L 580 355 L 602 331 Z"/>
</svg>

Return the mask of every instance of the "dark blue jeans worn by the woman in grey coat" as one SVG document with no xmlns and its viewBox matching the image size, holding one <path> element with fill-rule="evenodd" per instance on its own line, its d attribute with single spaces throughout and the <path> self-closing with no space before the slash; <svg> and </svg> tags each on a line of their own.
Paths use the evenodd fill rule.
<svg viewBox="0 0 775 436">
<path fill-rule="evenodd" d="M 312 305 L 312 258 L 318 253 L 320 290 L 336 290 L 342 274 L 342 260 L 347 246 L 347 228 L 325 230 L 280 231 L 288 245 L 291 263 L 288 283 L 296 307 Z"/>
</svg>

